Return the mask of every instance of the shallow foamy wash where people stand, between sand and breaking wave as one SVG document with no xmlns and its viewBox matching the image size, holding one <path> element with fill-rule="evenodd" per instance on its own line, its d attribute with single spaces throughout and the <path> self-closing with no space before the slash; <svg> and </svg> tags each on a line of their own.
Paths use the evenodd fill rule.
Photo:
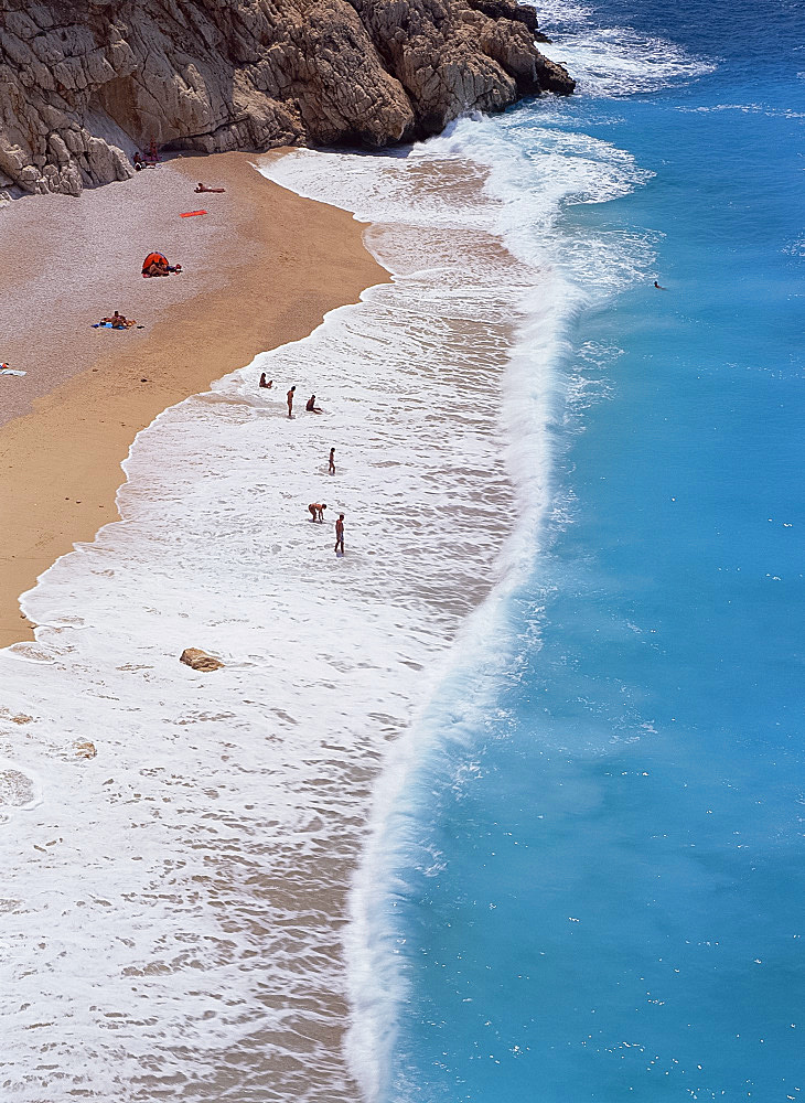
<svg viewBox="0 0 805 1103">
<path fill-rule="evenodd" d="M 395 161 L 315 158 L 279 182 L 340 201 L 355 234 L 356 195 L 375 183 L 397 194 Z M 434 197 L 429 176 L 440 196 L 450 181 L 457 202 L 482 201 L 474 167 L 414 165 L 416 216 Z M 378 957 L 376 898 L 358 899 L 362 855 L 378 779 L 388 793 L 386 771 L 417 760 L 422 709 L 501 577 L 515 499 L 498 407 L 519 315 L 518 266 L 494 235 L 438 217 L 425 233 L 389 227 L 364 210 L 394 279 L 151 421 L 126 462 L 126 524 L 58 559 L 26 597 L 36 644 L 0 653 L 20 828 L 9 838 L 34 854 L 14 865 L 20 907 L 4 934 L 32 920 L 46 932 L 44 951 L 21 945 L 15 971 L 26 1083 L 44 1014 L 28 992 L 44 968 L 50 1002 L 76 977 L 89 986 L 49 1032 L 49 1060 L 76 1086 L 153 1094 L 181 1070 L 187 1097 L 196 1084 L 224 1094 L 234 1077 L 259 1085 L 255 1097 L 270 1084 L 291 1099 L 303 1061 L 311 1100 L 375 1097 L 400 978 L 396 959 Z M 280 385 L 258 392 L 261 370 Z M 315 390 L 324 416 L 289 419 L 289 383 L 302 403 Z M 307 503 L 324 500 L 325 525 L 312 524 Z M 223 667 L 191 671 L 187 646 Z M 30 816 L 17 811 L 29 792 Z M 52 906 L 35 888 L 40 854 Z M 103 1057 L 73 1067 L 79 1037 L 132 1054 L 114 1085 Z"/>
</svg>

